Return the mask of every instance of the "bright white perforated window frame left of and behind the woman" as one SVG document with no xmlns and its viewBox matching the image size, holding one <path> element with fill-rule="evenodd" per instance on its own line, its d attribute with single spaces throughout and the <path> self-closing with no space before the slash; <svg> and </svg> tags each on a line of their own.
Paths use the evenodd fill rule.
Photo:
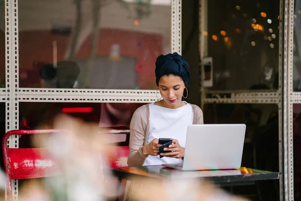
<svg viewBox="0 0 301 201">
<path fill-rule="evenodd" d="M 6 104 L 6 132 L 19 129 L 20 102 L 152 103 L 157 100 L 156 93 L 159 92 L 156 90 L 19 88 L 18 0 L 4 2 L 6 88 L 0 89 L 0 102 Z M 171 0 L 171 50 L 179 54 L 182 47 L 181 12 L 182 1 Z M 17 135 L 11 136 L 7 146 L 18 148 L 18 139 Z M 12 180 L 12 190 L 13 199 L 18 200 L 18 180 Z"/>
</svg>

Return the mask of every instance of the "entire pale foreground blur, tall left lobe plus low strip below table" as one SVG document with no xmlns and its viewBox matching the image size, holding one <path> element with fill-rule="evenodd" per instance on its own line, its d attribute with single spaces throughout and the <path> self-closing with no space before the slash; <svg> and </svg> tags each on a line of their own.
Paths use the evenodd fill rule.
<svg viewBox="0 0 301 201">
<path fill-rule="evenodd" d="M 46 137 L 35 135 L 34 144 L 38 147 L 50 147 L 50 154 L 59 164 L 60 175 L 26 180 L 20 186 L 19 200 L 98 201 L 115 198 L 123 193 L 125 186 L 121 185 L 117 192 L 116 178 L 108 171 L 105 174 L 103 172 L 115 151 L 112 147 L 107 147 L 96 124 L 59 116 L 54 121 L 54 128 L 62 132 Z M 4 189 L 2 180 L 0 190 Z M 131 185 L 134 187 L 126 191 L 126 197 L 130 200 L 246 200 L 199 179 L 132 180 L 135 181 Z M 0 192 L 3 192 L 0 193 L 0 198 L 3 198 L 4 190 Z"/>
</svg>

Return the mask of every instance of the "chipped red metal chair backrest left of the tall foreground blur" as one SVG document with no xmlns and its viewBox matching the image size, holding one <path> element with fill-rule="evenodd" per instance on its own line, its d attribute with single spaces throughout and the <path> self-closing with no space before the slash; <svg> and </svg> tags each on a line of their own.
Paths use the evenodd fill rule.
<svg viewBox="0 0 301 201">
<path fill-rule="evenodd" d="M 33 135 L 58 133 L 59 130 L 15 130 L 3 137 L 2 149 L 9 188 L 12 179 L 29 179 L 56 176 L 60 167 L 50 154 L 51 148 L 8 148 L 7 141 L 12 135 Z"/>
</svg>

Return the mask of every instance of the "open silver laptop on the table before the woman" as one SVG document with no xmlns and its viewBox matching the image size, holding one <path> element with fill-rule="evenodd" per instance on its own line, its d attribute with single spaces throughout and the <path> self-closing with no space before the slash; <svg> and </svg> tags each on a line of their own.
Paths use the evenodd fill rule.
<svg viewBox="0 0 301 201">
<path fill-rule="evenodd" d="M 187 128 L 183 164 L 162 164 L 180 170 L 237 169 L 241 166 L 245 124 L 202 124 Z"/>
</svg>

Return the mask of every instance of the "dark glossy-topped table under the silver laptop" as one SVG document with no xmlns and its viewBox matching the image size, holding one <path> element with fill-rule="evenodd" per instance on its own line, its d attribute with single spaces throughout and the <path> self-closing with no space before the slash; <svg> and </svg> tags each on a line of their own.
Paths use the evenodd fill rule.
<svg viewBox="0 0 301 201">
<path fill-rule="evenodd" d="M 219 186 L 250 185 L 255 181 L 279 179 L 278 172 L 241 167 L 232 170 L 181 171 L 161 165 L 118 167 L 110 171 L 121 179 L 185 179 L 203 178 Z"/>
</svg>

